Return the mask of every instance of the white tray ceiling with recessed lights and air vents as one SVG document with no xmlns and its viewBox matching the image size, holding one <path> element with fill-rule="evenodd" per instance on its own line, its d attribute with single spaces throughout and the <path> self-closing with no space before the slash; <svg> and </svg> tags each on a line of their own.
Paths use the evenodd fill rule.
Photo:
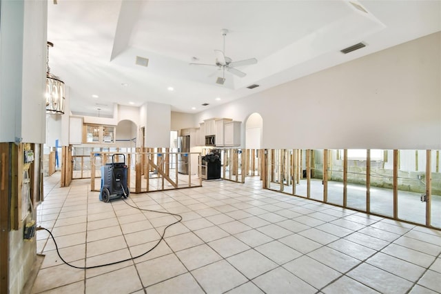
<svg viewBox="0 0 441 294">
<path fill-rule="evenodd" d="M 70 87 L 76 115 L 112 116 L 114 104 L 146 101 L 200 112 L 441 30 L 438 0 L 57 2 L 48 1 L 50 72 Z M 222 70 L 189 63 L 216 62 L 223 28 L 225 55 L 258 63 L 238 67 L 243 78 L 225 71 L 219 85 Z M 340 52 L 359 42 L 366 47 Z"/>
</svg>

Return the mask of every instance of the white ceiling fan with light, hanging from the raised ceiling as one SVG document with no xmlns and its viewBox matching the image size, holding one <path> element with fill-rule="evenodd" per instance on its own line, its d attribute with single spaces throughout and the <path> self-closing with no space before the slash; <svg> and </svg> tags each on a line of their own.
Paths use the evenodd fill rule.
<svg viewBox="0 0 441 294">
<path fill-rule="evenodd" d="M 220 50 L 214 50 L 214 55 L 216 56 L 216 63 L 215 64 L 207 64 L 207 63 L 190 63 L 190 65 L 195 66 L 217 66 L 218 70 L 223 70 L 223 78 L 218 78 L 218 81 L 216 83 L 223 84 L 225 81 L 225 70 L 228 72 L 231 72 L 233 75 L 236 75 L 238 77 L 245 77 L 247 75 L 245 72 L 238 70 L 237 66 L 249 66 L 251 64 L 256 64 L 257 59 L 250 58 L 250 59 L 244 59 L 240 61 L 232 61 L 231 58 L 225 56 L 225 36 L 227 36 L 228 30 L 226 28 L 223 28 L 220 30 L 223 35 L 223 51 Z M 216 71 L 217 72 L 217 71 Z"/>
</svg>

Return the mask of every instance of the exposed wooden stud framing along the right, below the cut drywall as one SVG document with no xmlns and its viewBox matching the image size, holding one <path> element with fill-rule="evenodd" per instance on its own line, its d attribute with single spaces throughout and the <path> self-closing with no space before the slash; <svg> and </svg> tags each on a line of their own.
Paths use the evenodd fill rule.
<svg viewBox="0 0 441 294">
<path fill-rule="evenodd" d="M 263 188 L 441 228 L 439 150 L 266 149 Z"/>
</svg>

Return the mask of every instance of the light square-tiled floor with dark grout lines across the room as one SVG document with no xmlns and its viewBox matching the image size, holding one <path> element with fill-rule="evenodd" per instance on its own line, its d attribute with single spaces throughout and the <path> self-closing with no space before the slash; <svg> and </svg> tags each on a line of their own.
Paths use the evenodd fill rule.
<svg viewBox="0 0 441 294">
<path fill-rule="evenodd" d="M 99 202 L 89 180 L 59 188 L 45 178 L 37 221 L 75 266 L 153 248 L 175 217 L 122 199 Z M 178 213 L 150 253 L 87 270 L 64 264 L 46 231 L 32 293 L 441 293 L 441 231 L 246 184 L 130 195 L 145 209 Z"/>
</svg>

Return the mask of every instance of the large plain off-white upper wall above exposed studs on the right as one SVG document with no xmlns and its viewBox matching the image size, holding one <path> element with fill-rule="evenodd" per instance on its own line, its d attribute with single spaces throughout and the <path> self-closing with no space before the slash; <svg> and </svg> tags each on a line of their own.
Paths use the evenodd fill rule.
<svg viewBox="0 0 441 294">
<path fill-rule="evenodd" d="M 196 115 L 263 117 L 263 148 L 441 148 L 441 32 Z"/>
</svg>

